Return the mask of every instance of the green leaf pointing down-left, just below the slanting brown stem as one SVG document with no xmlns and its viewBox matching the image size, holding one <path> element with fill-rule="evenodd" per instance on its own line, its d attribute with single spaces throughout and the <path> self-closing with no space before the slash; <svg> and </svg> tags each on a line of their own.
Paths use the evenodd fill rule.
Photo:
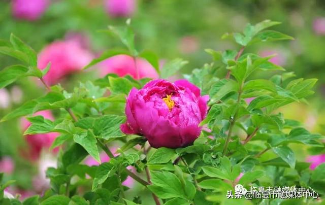
<svg viewBox="0 0 325 205">
<path fill-rule="evenodd" d="M 111 163 L 105 162 L 98 166 L 95 178 L 92 182 L 92 191 L 95 191 L 99 185 L 103 184 L 108 177 L 111 177 L 115 174 L 116 167 Z"/>
</svg>

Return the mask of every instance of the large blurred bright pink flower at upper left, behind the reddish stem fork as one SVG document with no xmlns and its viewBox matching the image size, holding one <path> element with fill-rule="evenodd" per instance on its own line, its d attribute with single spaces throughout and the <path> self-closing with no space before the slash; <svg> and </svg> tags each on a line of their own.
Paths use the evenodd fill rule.
<svg viewBox="0 0 325 205">
<path fill-rule="evenodd" d="M 78 41 L 56 41 L 41 51 L 38 57 L 38 67 L 45 69 L 51 62 L 50 70 L 44 76 L 44 81 L 53 85 L 64 76 L 80 71 L 92 58 L 92 54 Z"/>
</svg>

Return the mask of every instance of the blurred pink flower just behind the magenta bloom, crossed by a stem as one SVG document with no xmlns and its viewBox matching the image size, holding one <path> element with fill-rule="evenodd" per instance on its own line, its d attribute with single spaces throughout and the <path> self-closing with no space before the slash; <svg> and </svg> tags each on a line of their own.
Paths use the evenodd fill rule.
<svg viewBox="0 0 325 205">
<path fill-rule="evenodd" d="M 133 57 L 128 55 L 110 57 L 100 63 L 101 75 L 105 76 L 109 73 L 115 73 L 120 77 L 131 75 L 135 79 L 158 78 L 158 73 L 148 61 L 143 58 L 137 58 L 136 62 Z"/>
</svg>

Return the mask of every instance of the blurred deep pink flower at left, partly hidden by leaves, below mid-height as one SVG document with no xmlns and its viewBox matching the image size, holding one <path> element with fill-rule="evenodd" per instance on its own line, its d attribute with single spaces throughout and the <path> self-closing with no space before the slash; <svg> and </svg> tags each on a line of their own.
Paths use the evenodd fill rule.
<svg viewBox="0 0 325 205">
<path fill-rule="evenodd" d="M 40 111 L 34 114 L 34 116 L 41 115 L 46 119 L 54 120 L 53 115 L 50 111 Z M 22 130 L 25 131 L 30 125 L 30 122 L 27 119 L 21 119 L 21 127 Z M 50 148 L 53 141 L 59 133 L 57 132 L 50 132 L 50 133 L 43 133 L 43 134 L 30 134 L 25 135 L 25 140 L 29 146 L 29 153 L 28 157 L 32 160 L 39 159 L 40 154 L 43 149 Z M 53 152 L 57 152 L 58 148 L 54 149 Z"/>
</svg>

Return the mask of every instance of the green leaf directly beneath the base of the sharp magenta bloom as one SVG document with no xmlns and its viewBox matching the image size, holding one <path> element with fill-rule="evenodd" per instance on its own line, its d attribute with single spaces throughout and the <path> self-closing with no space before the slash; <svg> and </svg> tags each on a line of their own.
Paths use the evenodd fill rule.
<svg viewBox="0 0 325 205">
<path fill-rule="evenodd" d="M 174 149 L 161 147 L 157 149 L 149 158 L 148 164 L 164 164 L 176 156 Z"/>
</svg>

